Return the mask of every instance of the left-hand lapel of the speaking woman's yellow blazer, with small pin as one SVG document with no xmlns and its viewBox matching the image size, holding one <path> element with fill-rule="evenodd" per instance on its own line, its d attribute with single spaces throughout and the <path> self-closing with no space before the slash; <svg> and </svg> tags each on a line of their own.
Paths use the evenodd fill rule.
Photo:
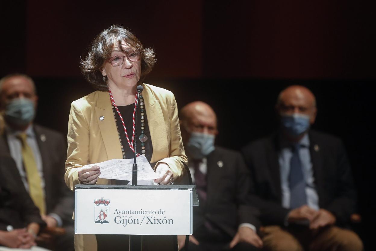
<svg viewBox="0 0 376 251">
<path fill-rule="evenodd" d="M 98 102 L 95 107 L 96 122 L 98 123 L 100 134 L 106 148 L 106 154 L 109 160 L 122 158 L 119 155 L 120 141 L 117 135 L 117 128 L 114 114 L 111 107 L 109 94 L 106 91 L 98 92 Z M 99 118 L 103 116 L 103 120 Z M 127 144 L 127 142 L 124 142 Z"/>
</svg>

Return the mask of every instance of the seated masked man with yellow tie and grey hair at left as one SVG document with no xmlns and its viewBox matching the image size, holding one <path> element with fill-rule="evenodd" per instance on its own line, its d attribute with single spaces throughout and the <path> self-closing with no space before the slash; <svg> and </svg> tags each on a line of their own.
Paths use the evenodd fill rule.
<svg viewBox="0 0 376 251">
<path fill-rule="evenodd" d="M 57 250 L 73 250 L 74 194 L 64 184 L 66 143 L 61 133 L 33 123 L 37 101 L 29 76 L 0 79 L 0 112 L 5 120 L 0 149 L 14 159 L 47 227 L 65 228 L 66 234 L 57 239 Z M 44 114 L 46 119 L 51 115 Z"/>
</svg>

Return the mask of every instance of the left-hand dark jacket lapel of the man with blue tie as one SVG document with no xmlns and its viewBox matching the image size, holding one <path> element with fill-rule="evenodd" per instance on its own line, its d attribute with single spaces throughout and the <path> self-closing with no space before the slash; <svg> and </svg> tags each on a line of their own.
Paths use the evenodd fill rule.
<svg viewBox="0 0 376 251">
<path fill-rule="evenodd" d="M 271 177 L 271 190 L 278 201 L 282 201 L 282 190 L 280 182 L 279 162 L 278 162 L 279 144 L 277 137 L 272 137 L 267 149 L 268 167 Z M 273 185 L 274 184 L 274 185 Z"/>
</svg>

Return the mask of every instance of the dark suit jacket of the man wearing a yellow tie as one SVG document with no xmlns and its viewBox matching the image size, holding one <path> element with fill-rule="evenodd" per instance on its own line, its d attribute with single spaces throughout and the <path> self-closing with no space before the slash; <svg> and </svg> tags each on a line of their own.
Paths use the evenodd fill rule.
<svg viewBox="0 0 376 251">
<path fill-rule="evenodd" d="M 64 182 L 64 166 L 67 157 L 64 137 L 59 132 L 39 125 L 34 124 L 33 128 L 42 157 L 46 212 L 47 214 L 58 214 L 63 225 L 72 225 L 74 193 L 68 189 Z M 9 154 L 6 134 L 0 137 L 0 149 Z"/>
</svg>

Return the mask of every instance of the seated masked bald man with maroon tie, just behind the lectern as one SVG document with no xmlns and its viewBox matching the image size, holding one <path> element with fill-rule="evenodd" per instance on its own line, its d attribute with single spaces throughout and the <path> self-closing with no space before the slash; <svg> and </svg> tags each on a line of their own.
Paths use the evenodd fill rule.
<svg viewBox="0 0 376 251">
<path fill-rule="evenodd" d="M 217 117 L 208 104 L 189 103 L 179 117 L 200 199 L 200 206 L 194 207 L 189 250 L 258 250 L 259 224 L 252 207 L 245 204 L 250 178 L 241 155 L 214 146 Z"/>
</svg>

